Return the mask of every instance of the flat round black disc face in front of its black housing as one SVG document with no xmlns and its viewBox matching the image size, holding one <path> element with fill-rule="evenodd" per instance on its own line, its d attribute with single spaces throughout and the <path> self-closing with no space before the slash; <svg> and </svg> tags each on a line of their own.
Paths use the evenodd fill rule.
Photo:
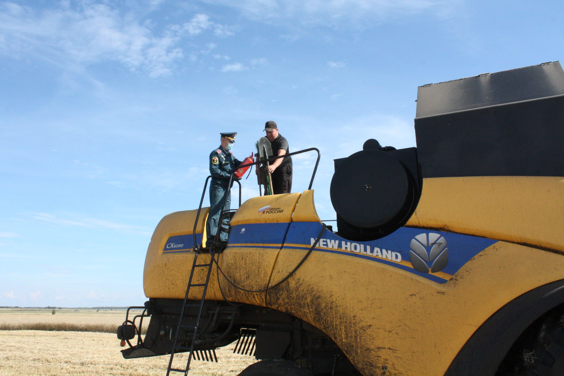
<svg viewBox="0 0 564 376">
<path fill-rule="evenodd" d="M 363 150 L 340 163 L 331 180 L 333 208 L 360 228 L 381 227 L 404 214 L 413 200 L 411 178 L 393 156 Z"/>
</svg>

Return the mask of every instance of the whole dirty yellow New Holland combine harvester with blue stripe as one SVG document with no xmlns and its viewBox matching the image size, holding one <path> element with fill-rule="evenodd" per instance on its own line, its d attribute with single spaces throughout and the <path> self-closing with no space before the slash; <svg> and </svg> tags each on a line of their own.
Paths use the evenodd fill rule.
<svg viewBox="0 0 564 376">
<path fill-rule="evenodd" d="M 209 208 L 166 215 L 124 357 L 186 374 L 237 341 L 261 360 L 242 376 L 564 374 L 561 65 L 421 86 L 415 130 L 335 160 L 337 232 L 311 189 L 245 201 L 211 249 Z"/>
</svg>

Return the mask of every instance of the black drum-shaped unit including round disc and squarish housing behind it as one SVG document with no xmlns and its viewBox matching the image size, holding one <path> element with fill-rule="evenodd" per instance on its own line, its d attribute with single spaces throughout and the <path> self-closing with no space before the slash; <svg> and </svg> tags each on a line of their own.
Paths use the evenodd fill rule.
<svg viewBox="0 0 564 376">
<path fill-rule="evenodd" d="M 338 234 L 368 241 L 404 225 L 420 196 L 417 171 L 415 148 L 368 149 L 335 160 L 330 193 Z"/>
</svg>

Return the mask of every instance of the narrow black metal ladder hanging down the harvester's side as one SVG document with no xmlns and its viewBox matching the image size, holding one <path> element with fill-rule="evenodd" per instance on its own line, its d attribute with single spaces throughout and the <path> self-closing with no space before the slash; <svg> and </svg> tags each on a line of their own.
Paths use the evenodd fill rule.
<svg viewBox="0 0 564 376">
<path fill-rule="evenodd" d="M 169 361 L 169 366 L 166 369 L 166 376 L 169 376 L 170 371 L 183 372 L 184 376 L 186 376 L 188 374 L 188 370 L 190 370 L 190 362 L 192 361 L 193 355 L 194 355 L 194 343 L 196 342 L 196 337 L 198 335 L 198 327 L 200 325 L 200 317 L 202 315 L 202 309 L 204 308 L 204 300 L 206 298 L 206 291 L 208 291 L 208 284 L 209 284 L 209 280 L 210 280 L 211 267 L 213 266 L 212 259 L 213 259 L 215 250 L 210 249 L 209 253 L 206 252 L 206 254 L 210 255 L 210 260 L 209 260 L 209 263 L 205 263 L 205 264 L 198 264 L 198 261 L 197 261 L 198 256 L 201 254 L 201 251 L 198 249 L 198 247 L 194 247 L 193 250 L 195 252 L 195 255 L 194 255 L 194 260 L 193 260 L 193 263 L 192 263 L 192 270 L 190 271 L 190 278 L 188 279 L 188 285 L 186 286 L 186 295 L 184 295 L 184 302 L 182 303 L 182 308 L 180 309 L 180 317 L 178 318 L 178 326 L 177 326 L 176 333 L 174 334 L 173 348 L 172 348 L 172 351 L 170 352 L 170 361 Z M 198 283 L 198 284 L 192 283 L 192 277 L 194 276 L 194 271 L 196 270 L 196 268 L 208 268 L 208 272 L 206 273 L 206 279 L 205 279 L 204 283 Z M 201 298 L 199 304 L 197 304 L 197 303 L 187 303 L 188 294 L 190 294 L 190 287 L 204 287 L 204 291 L 202 292 L 202 298 Z M 184 309 L 187 308 L 187 307 L 199 307 L 198 313 L 197 313 L 197 316 L 196 316 L 196 324 L 195 325 L 182 324 L 182 317 L 184 316 Z M 190 346 L 178 346 L 178 333 L 180 332 L 180 328 L 192 329 L 194 331 L 194 333 L 192 334 L 192 341 L 190 343 Z M 174 354 L 177 352 L 177 350 L 188 350 L 188 361 L 186 363 L 186 369 L 173 368 L 173 366 L 172 366 Z"/>
</svg>

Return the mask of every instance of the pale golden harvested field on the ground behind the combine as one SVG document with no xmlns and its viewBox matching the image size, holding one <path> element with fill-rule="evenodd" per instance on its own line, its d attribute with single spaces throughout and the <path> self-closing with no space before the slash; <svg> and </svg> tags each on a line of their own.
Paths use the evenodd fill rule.
<svg viewBox="0 0 564 376">
<path fill-rule="evenodd" d="M 0 309 L 0 328 L 34 323 L 60 325 L 65 324 L 64 316 L 77 326 L 92 322 L 117 326 L 125 317 L 125 311 L 85 310 L 81 315 L 80 311 L 69 310 L 59 319 L 59 310 L 55 315 L 46 309 L 35 313 L 8 311 Z M 164 376 L 168 365 L 168 356 L 123 359 L 120 340 L 114 333 L 5 329 L 0 330 L 0 344 L 1 376 Z M 233 354 L 233 346 L 217 350 L 219 363 L 192 361 L 190 375 L 237 375 L 256 361 L 250 356 Z M 175 366 L 184 368 L 186 359 L 186 354 L 179 354 Z"/>
</svg>

